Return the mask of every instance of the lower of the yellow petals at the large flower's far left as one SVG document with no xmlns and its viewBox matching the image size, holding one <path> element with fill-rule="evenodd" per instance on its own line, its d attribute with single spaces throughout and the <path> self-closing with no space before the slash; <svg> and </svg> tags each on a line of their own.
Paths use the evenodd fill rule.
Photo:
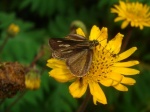
<svg viewBox="0 0 150 112">
<path fill-rule="evenodd" d="M 67 69 L 55 68 L 49 72 L 50 76 L 59 82 L 67 82 L 75 77 L 71 75 L 70 71 Z"/>
</svg>

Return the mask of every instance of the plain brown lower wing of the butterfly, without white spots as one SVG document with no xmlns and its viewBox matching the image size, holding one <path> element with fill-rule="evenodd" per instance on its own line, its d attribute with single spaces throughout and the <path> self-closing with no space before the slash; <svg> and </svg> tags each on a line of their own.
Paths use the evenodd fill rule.
<svg viewBox="0 0 150 112">
<path fill-rule="evenodd" d="M 93 51 L 84 49 L 66 60 L 66 64 L 73 75 L 83 77 L 89 71 L 92 63 Z"/>
</svg>

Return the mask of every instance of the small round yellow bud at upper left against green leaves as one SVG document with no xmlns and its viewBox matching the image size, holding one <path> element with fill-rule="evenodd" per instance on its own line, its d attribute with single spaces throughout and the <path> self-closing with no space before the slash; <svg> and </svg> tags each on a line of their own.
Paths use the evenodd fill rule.
<svg viewBox="0 0 150 112">
<path fill-rule="evenodd" d="M 10 24 L 8 29 L 7 29 L 8 35 L 10 35 L 12 37 L 16 36 L 19 31 L 20 31 L 19 26 L 14 24 L 14 23 Z"/>
</svg>

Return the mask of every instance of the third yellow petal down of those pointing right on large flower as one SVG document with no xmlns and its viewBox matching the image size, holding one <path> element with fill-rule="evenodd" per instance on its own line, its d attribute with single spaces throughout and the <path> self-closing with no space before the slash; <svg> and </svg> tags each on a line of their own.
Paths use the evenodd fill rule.
<svg viewBox="0 0 150 112">
<path fill-rule="evenodd" d="M 111 70 L 116 73 L 124 74 L 124 75 L 136 75 L 139 74 L 140 71 L 132 68 L 125 67 L 111 67 Z"/>
</svg>

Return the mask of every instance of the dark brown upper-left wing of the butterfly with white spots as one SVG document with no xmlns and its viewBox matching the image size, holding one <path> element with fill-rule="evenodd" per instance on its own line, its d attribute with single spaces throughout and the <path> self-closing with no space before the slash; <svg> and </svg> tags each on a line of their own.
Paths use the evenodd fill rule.
<svg viewBox="0 0 150 112">
<path fill-rule="evenodd" d="M 81 52 L 89 48 L 89 42 L 84 39 L 82 41 L 51 38 L 49 45 L 52 50 L 52 57 L 59 59 L 67 59 L 75 53 Z"/>
</svg>

